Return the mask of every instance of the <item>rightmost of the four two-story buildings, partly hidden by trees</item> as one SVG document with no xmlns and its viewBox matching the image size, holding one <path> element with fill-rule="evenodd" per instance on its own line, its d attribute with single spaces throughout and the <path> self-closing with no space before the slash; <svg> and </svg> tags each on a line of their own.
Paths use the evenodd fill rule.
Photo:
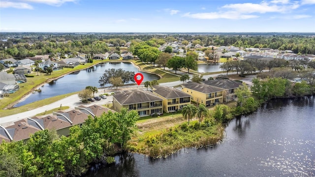
<svg viewBox="0 0 315 177">
<path fill-rule="evenodd" d="M 223 94 L 224 95 L 223 100 L 225 100 L 226 102 L 234 100 L 237 97 L 235 94 L 235 90 L 237 88 L 243 87 L 243 84 L 241 82 L 229 79 L 209 80 L 204 81 L 203 83 L 219 89 L 224 89 L 225 94 Z"/>
</svg>

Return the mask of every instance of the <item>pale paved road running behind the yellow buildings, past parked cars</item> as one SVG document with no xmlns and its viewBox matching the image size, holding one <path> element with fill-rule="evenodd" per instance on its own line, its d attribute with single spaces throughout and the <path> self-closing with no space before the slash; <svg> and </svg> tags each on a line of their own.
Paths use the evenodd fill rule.
<svg viewBox="0 0 315 177">
<path fill-rule="evenodd" d="M 236 72 L 228 73 L 228 75 L 231 75 L 231 74 L 236 74 Z M 203 78 L 208 79 L 209 77 L 216 77 L 218 75 L 219 74 L 206 75 L 206 76 L 203 76 Z M 250 77 L 246 77 L 242 80 L 246 84 L 252 85 L 251 80 L 254 77 L 255 76 L 250 76 Z M 191 76 L 190 76 L 190 78 L 191 78 Z M 181 81 L 174 81 L 174 82 L 168 82 L 168 83 L 161 83 L 160 86 L 176 87 L 176 86 L 181 85 L 182 83 L 183 82 L 181 82 Z M 104 93 L 104 91 L 105 92 L 111 92 L 112 89 L 113 88 L 107 88 L 105 90 L 99 89 L 98 93 L 96 95 L 102 94 L 102 93 Z M 146 89 L 146 88 L 144 87 L 144 85 L 140 85 L 140 86 L 124 86 L 124 87 L 121 87 L 120 89 Z M 49 105 L 45 105 L 45 106 L 30 110 L 30 111 L 26 111 L 23 113 L 18 113 L 15 115 L 2 117 L 2 118 L 0 118 L 0 125 L 2 125 L 4 127 L 9 126 L 9 125 L 13 124 L 14 121 L 17 121 L 17 120 L 20 120 L 23 118 L 31 118 L 31 117 L 35 116 L 36 114 L 43 113 L 45 111 L 52 110 L 54 108 L 59 108 L 61 104 L 62 104 L 62 106 L 69 106 L 70 107 L 69 110 L 71 110 L 71 109 L 74 109 L 74 107 L 80 106 L 80 105 L 85 105 L 85 106 L 90 106 L 90 105 L 94 105 L 94 104 L 105 105 L 105 104 L 111 103 L 112 101 L 113 101 L 113 97 L 107 96 L 107 99 L 101 99 L 100 101 L 95 101 L 92 103 L 84 104 L 84 103 L 80 102 L 80 98 L 78 97 L 78 95 L 74 94 L 74 95 L 65 97 L 59 101 L 56 101 L 54 103 L 51 103 Z"/>
</svg>

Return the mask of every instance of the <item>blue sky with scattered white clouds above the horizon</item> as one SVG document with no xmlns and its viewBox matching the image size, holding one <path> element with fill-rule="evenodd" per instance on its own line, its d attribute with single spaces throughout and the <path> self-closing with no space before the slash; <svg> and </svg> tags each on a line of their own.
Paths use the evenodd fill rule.
<svg viewBox="0 0 315 177">
<path fill-rule="evenodd" d="M 315 0 L 0 0 L 0 31 L 315 32 Z"/>
</svg>

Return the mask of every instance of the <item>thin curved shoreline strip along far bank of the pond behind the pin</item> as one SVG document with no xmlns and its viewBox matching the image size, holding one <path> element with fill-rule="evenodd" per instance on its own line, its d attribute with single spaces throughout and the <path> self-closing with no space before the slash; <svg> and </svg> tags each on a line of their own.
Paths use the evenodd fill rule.
<svg viewBox="0 0 315 177">
<path fill-rule="evenodd" d="M 25 95 L 23 95 L 20 99 L 18 99 L 18 100 L 16 100 L 16 101 L 12 102 L 12 103 L 10 103 L 10 104 L 8 104 L 3 110 L 5 110 L 5 109 L 14 109 L 14 105 L 16 105 L 16 104 L 20 103 L 21 101 L 27 99 L 27 98 L 32 94 L 33 91 L 35 91 L 37 88 L 42 87 L 43 85 L 45 85 L 45 84 L 47 84 L 47 83 L 49 83 L 49 82 L 55 81 L 55 80 L 57 80 L 57 79 L 60 79 L 60 78 L 66 76 L 66 75 L 68 75 L 68 74 L 73 73 L 73 72 L 81 71 L 81 70 L 84 70 L 84 69 L 93 67 L 93 66 L 95 66 L 95 65 L 97 65 L 97 64 L 105 63 L 105 62 L 129 62 L 129 63 L 131 63 L 133 66 L 135 66 L 136 68 L 138 68 L 139 71 L 157 75 L 157 76 L 159 77 L 159 79 L 162 79 L 162 76 L 161 76 L 161 75 L 156 74 L 156 73 L 153 73 L 153 72 L 150 72 L 150 71 L 142 70 L 138 65 L 136 65 L 136 64 L 135 64 L 134 62 L 132 62 L 132 61 L 121 61 L 121 60 L 115 60 L 115 61 L 101 61 L 101 62 L 92 64 L 92 65 L 89 66 L 89 67 L 82 68 L 82 69 L 75 70 L 75 71 L 70 71 L 70 72 L 64 73 L 64 74 L 62 74 L 62 75 L 60 75 L 60 76 L 58 76 L 58 77 L 48 79 L 48 80 L 46 80 L 45 82 L 34 86 L 30 91 L 28 91 L 28 92 L 27 92 Z M 98 89 L 103 89 L 103 88 L 98 88 Z"/>
</svg>

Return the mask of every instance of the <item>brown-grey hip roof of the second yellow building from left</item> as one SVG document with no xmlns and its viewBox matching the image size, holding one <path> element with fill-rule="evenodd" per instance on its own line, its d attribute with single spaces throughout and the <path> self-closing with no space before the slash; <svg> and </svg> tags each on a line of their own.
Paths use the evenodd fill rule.
<svg viewBox="0 0 315 177">
<path fill-rule="evenodd" d="M 189 94 L 174 88 L 169 87 L 155 87 L 156 90 L 153 90 L 153 92 L 158 93 L 159 95 L 163 96 L 166 99 L 171 98 L 181 98 L 181 97 L 190 97 Z"/>
</svg>

